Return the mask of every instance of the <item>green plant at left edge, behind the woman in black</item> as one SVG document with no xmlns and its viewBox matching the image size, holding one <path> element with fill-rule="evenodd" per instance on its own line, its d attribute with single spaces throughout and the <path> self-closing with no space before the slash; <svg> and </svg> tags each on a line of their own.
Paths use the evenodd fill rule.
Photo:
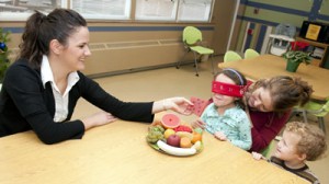
<svg viewBox="0 0 329 184">
<path fill-rule="evenodd" d="M 9 49 L 7 43 L 10 41 L 9 38 L 10 32 L 4 32 L 2 27 L 0 27 L 0 89 L 1 83 L 4 78 L 4 73 L 7 68 L 9 67 Z"/>
</svg>

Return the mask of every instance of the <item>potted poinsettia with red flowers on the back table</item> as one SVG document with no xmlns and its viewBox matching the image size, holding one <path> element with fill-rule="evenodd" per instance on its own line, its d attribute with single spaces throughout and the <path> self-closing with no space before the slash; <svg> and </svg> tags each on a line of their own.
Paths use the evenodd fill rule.
<svg viewBox="0 0 329 184">
<path fill-rule="evenodd" d="M 296 72 L 302 62 L 309 65 L 311 61 L 310 53 L 298 50 L 298 47 L 284 53 L 282 57 L 286 59 L 286 70 L 291 72 Z"/>
</svg>

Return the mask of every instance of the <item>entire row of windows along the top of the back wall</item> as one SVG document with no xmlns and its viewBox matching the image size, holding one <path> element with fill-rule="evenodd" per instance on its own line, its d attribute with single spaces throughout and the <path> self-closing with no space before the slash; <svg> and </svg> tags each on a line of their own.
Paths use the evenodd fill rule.
<svg viewBox="0 0 329 184">
<path fill-rule="evenodd" d="M 132 7 L 135 2 L 136 7 Z M 0 0 L 1 21 L 25 21 L 34 10 L 69 8 L 87 20 L 209 22 L 215 0 Z M 69 7 L 67 7 L 69 5 Z"/>
</svg>

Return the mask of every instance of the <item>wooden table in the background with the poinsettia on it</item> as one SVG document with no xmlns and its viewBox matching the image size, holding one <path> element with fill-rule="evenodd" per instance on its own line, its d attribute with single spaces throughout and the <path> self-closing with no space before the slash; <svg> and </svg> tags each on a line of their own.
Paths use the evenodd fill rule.
<svg viewBox="0 0 329 184">
<path fill-rule="evenodd" d="M 285 70 L 286 60 L 274 55 L 261 55 L 251 59 L 220 62 L 219 68 L 234 68 L 251 80 L 274 76 L 300 77 L 314 89 L 313 99 L 326 101 L 329 97 L 329 70 L 311 65 L 300 64 L 296 72 Z"/>
</svg>

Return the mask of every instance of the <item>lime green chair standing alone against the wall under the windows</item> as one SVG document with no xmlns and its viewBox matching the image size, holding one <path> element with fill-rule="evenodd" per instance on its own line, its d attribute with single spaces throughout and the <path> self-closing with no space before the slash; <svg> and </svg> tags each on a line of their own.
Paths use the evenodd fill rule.
<svg viewBox="0 0 329 184">
<path fill-rule="evenodd" d="M 213 73 L 214 72 L 214 61 L 213 61 L 213 54 L 214 50 L 207 47 L 203 47 L 201 45 L 202 42 L 202 33 L 198 28 L 194 27 L 194 26 L 186 26 L 183 31 L 183 43 L 184 43 L 184 47 L 186 49 L 182 60 L 184 59 L 184 57 L 186 56 L 188 53 L 192 51 L 194 55 L 194 67 L 195 67 L 195 76 L 198 77 L 198 69 L 197 69 L 197 61 L 201 60 L 201 57 L 203 55 L 208 55 L 209 59 L 212 60 L 212 67 L 213 67 Z M 198 59 L 196 59 L 198 57 Z M 177 69 L 180 68 L 181 66 L 181 61 L 178 61 L 177 65 Z"/>
</svg>

